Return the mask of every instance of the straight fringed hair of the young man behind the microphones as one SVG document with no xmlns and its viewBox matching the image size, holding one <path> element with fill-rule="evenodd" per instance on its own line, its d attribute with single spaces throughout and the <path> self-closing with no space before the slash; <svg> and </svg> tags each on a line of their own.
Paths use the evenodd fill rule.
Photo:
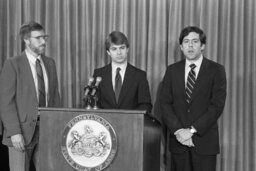
<svg viewBox="0 0 256 171">
<path fill-rule="evenodd" d="M 129 48 L 129 42 L 127 37 L 120 31 L 113 31 L 108 35 L 105 41 L 105 46 L 107 51 L 109 50 L 111 44 L 115 44 L 115 45 L 125 44 L 126 47 Z"/>
</svg>

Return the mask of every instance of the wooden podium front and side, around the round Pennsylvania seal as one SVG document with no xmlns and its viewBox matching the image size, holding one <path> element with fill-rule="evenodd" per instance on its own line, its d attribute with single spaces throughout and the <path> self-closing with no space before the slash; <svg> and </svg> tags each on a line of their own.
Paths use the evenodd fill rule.
<svg viewBox="0 0 256 171">
<path fill-rule="evenodd" d="M 79 170 L 63 155 L 63 134 L 72 119 L 84 115 L 104 118 L 115 131 L 117 151 L 104 171 L 160 170 L 160 125 L 145 111 L 39 108 L 39 113 L 41 171 Z M 97 168 L 83 170 L 96 171 Z"/>
</svg>

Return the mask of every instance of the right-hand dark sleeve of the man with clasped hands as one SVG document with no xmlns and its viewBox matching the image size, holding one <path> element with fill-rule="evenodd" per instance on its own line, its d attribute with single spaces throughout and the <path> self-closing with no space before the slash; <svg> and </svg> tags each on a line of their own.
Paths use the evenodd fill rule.
<svg viewBox="0 0 256 171">
<path fill-rule="evenodd" d="M 227 80 L 225 69 L 223 66 L 219 65 L 213 78 L 212 96 L 208 110 L 192 124 L 199 135 L 206 133 L 212 125 L 217 122 L 223 112 L 227 94 L 226 88 Z"/>
</svg>

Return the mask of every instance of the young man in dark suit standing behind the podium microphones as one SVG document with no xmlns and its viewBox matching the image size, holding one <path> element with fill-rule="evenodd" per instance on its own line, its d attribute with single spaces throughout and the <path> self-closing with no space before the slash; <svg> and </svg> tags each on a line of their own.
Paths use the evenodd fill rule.
<svg viewBox="0 0 256 171">
<path fill-rule="evenodd" d="M 127 62 L 129 42 L 119 32 L 110 33 L 105 42 L 111 63 L 94 70 L 101 77 L 99 105 L 104 109 L 137 109 L 151 112 L 152 104 L 146 72 Z"/>
</svg>

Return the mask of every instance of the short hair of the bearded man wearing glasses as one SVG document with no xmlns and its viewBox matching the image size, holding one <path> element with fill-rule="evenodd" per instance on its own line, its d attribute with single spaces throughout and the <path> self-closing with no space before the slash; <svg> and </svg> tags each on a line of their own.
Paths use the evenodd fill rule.
<svg viewBox="0 0 256 171">
<path fill-rule="evenodd" d="M 41 31 L 44 30 L 43 26 L 35 21 L 29 21 L 27 23 L 24 23 L 20 28 L 20 37 L 21 40 L 27 39 L 30 36 L 30 33 L 32 31 Z"/>
</svg>

